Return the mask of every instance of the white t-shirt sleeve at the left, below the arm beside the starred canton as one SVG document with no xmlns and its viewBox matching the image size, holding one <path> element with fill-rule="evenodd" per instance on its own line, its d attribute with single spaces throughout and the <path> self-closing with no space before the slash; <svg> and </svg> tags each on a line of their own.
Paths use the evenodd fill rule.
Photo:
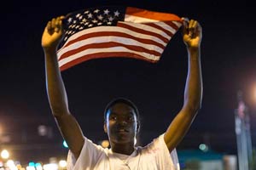
<svg viewBox="0 0 256 170">
<path fill-rule="evenodd" d="M 90 169 L 96 165 L 96 161 L 103 153 L 102 146 L 94 144 L 90 139 L 84 137 L 84 146 L 78 159 L 73 156 L 71 150 L 68 150 L 67 170 Z"/>
</svg>

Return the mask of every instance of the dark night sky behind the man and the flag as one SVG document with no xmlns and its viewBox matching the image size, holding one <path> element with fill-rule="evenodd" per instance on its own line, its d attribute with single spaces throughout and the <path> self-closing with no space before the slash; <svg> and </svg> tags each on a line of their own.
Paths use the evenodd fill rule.
<svg viewBox="0 0 256 170">
<path fill-rule="evenodd" d="M 67 150 L 58 145 L 61 145 L 61 134 L 51 116 L 45 89 L 41 48 L 44 26 L 52 17 L 102 5 L 147 8 L 200 21 L 203 100 L 201 111 L 178 150 L 196 149 L 205 142 L 212 150 L 236 153 L 234 110 L 238 90 L 243 92 L 248 106 L 255 146 L 256 22 L 253 5 L 247 1 L 25 0 L 6 3 L 1 10 L 0 127 L 3 134 L 11 138 L 7 144 L 15 146 L 17 152 L 21 150 L 24 160 L 32 156 L 61 153 L 65 157 L 67 154 Z M 70 111 L 89 139 L 95 142 L 107 139 L 103 133 L 104 107 L 109 100 L 122 96 L 137 104 L 142 116 L 139 142 L 148 144 L 165 132 L 181 109 L 186 74 L 187 53 L 178 31 L 156 64 L 136 59 L 95 59 L 63 71 L 62 77 Z M 37 127 L 42 124 L 52 128 L 53 137 L 38 137 Z M 45 150 L 38 151 L 38 148 Z M 48 150 L 55 151 L 49 155 Z M 30 152 L 34 155 L 26 156 Z"/>
</svg>

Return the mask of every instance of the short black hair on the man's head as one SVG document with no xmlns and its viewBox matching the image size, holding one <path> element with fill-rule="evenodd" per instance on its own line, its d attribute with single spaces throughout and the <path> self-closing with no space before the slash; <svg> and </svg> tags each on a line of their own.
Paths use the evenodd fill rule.
<svg viewBox="0 0 256 170">
<path fill-rule="evenodd" d="M 140 116 L 139 116 L 139 112 L 137 110 L 137 106 L 130 100 L 130 99 L 126 99 L 124 97 L 119 97 L 119 98 L 115 98 L 115 99 L 112 99 L 108 105 L 106 106 L 105 108 L 105 111 L 104 111 L 104 120 L 106 121 L 107 120 L 107 113 L 108 113 L 108 110 L 115 104 L 118 104 L 118 103 L 123 103 L 125 105 L 129 105 L 131 106 L 131 108 L 135 111 L 135 114 L 137 116 L 137 122 L 140 121 Z"/>
</svg>

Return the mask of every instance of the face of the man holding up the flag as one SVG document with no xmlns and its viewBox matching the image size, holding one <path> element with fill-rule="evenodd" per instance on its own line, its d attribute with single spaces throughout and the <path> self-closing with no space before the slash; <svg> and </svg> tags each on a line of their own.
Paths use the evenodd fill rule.
<svg viewBox="0 0 256 170">
<path fill-rule="evenodd" d="M 104 130 L 111 144 L 134 143 L 137 133 L 137 116 L 134 109 L 124 103 L 117 103 L 107 112 Z"/>
</svg>

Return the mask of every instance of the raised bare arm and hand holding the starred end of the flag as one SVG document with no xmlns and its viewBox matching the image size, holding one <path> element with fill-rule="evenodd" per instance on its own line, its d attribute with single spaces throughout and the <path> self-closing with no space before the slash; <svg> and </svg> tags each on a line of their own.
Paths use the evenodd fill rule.
<svg viewBox="0 0 256 170">
<path fill-rule="evenodd" d="M 64 17 L 54 18 L 48 22 L 42 37 L 45 57 L 46 88 L 49 105 L 55 121 L 73 155 L 78 158 L 84 144 L 83 133 L 79 123 L 70 114 L 67 94 L 59 70 L 56 50 L 63 37 L 62 21 Z"/>
</svg>

